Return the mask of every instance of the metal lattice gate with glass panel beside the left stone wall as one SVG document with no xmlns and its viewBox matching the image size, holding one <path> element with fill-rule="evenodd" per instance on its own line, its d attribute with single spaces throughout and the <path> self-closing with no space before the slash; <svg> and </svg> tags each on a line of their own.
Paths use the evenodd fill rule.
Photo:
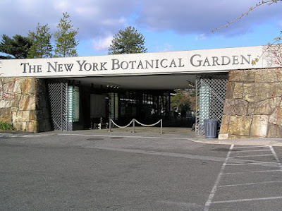
<svg viewBox="0 0 282 211">
<path fill-rule="evenodd" d="M 47 89 L 54 131 L 72 131 L 73 92 L 68 88 L 68 83 L 48 81 Z"/>
</svg>

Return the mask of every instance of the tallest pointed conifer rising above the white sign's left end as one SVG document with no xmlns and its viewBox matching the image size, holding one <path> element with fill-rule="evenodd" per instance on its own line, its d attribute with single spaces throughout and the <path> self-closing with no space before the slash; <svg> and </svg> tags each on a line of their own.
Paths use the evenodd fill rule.
<svg viewBox="0 0 282 211">
<path fill-rule="evenodd" d="M 54 33 L 56 39 L 54 52 L 57 57 L 78 56 L 76 47 L 79 41 L 75 40 L 75 36 L 78 35 L 78 29 L 73 30 L 71 20 L 68 20 L 69 17 L 68 13 L 63 13 L 63 18 L 61 18 L 57 26 L 58 30 Z"/>
</svg>

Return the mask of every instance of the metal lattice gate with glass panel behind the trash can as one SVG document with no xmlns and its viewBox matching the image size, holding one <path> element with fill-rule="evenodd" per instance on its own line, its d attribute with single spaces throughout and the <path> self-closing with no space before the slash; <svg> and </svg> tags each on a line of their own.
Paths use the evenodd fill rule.
<svg viewBox="0 0 282 211">
<path fill-rule="evenodd" d="M 204 135 L 204 119 L 217 119 L 218 125 L 221 125 L 227 81 L 227 74 L 197 76 L 195 128 L 197 135 Z"/>
</svg>

